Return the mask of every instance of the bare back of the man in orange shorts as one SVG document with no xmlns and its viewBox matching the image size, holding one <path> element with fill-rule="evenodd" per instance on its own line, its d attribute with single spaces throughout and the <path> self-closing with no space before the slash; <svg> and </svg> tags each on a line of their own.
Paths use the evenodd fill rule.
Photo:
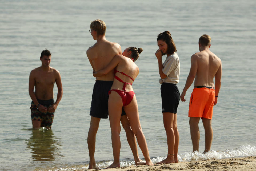
<svg viewBox="0 0 256 171">
<path fill-rule="evenodd" d="M 221 60 L 210 50 L 203 50 L 191 57 L 197 61 L 197 73 L 194 86 L 214 87 L 213 78 L 221 67 Z"/>
</svg>

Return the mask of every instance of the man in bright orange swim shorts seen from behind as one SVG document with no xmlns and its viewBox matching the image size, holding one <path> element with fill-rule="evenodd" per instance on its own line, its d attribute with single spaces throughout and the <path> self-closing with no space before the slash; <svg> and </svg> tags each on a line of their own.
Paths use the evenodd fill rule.
<svg viewBox="0 0 256 171">
<path fill-rule="evenodd" d="M 211 148 L 213 140 L 213 130 L 211 127 L 213 106 L 217 104 L 221 88 L 221 59 L 209 50 L 211 46 L 210 36 L 202 35 L 199 38 L 198 44 L 200 52 L 191 56 L 191 68 L 181 93 L 181 101 L 186 101 L 184 99 L 186 91 L 195 79 L 194 89 L 189 102 L 190 135 L 193 152 L 199 151 L 200 132 L 198 123 L 201 118 L 205 129 L 204 153 L 207 153 Z M 213 78 L 215 78 L 215 84 Z"/>
</svg>

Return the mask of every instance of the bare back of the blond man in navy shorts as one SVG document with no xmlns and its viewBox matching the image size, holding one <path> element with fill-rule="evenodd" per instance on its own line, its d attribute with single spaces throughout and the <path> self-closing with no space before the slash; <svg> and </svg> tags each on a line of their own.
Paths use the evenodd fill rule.
<svg viewBox="0 0 256 171">
<path fill-rule="evenodd" d="M 97 40 L 93 46 L 86 51 L 87 57 L 96 72 L 102 70 L 110 63 L 114 56 L 122 54 L 121 46 L 118 43 L 109 42 L 105 39 Z M 96 80 L 113 81 L 114 70 Z"/>
</svg>

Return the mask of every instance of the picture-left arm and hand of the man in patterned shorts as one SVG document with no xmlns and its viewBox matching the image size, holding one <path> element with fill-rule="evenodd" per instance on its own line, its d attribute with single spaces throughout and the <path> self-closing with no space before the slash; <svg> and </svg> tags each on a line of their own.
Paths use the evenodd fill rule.
<svg viewBox="0 0 256 171">
<path fill-rule="evenodd" d="M 32 70 L 29 75 L 29 96 L 32 99 L 32 101 L 34 102 L 34 104 L 38 107 L 38 110 L 40 112 L 46 112 L 47 108 L 44 107 L 43 105 L 39 105 L 37 97 L 35 96 L 35 93 L 34 93 L 34 87 L 35 87 L 35 73 L 34 72 L 35 71 Z"/>
</svg>

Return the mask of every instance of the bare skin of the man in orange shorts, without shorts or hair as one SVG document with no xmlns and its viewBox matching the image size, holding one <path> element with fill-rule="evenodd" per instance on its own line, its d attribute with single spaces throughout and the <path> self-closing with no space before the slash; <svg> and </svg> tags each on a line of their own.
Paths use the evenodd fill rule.
<svg viewBox="0 0 256 171">
<path fill-rule="evenodd" d="M 221 88 L 221 59 L 218 58 L 213 52 L 210 51 L 211 44 L 203 46 L 198 43 L 199 51 L 191 56 L 191 67 L 189 75 L 187 76 L 186 84 L 181 93 L 181 101 L 185 102 L 186 91 L 189 89 L 191 84 L 194 82 L 194 86 L 209 86 L 215 87 L 215 100 L 214 105 L 217 104 L 219 90 Z M 215 78 L 215 83 L 214 79 Z M 200 132 L 198 123 L 200 117 L 190 117 L 190 135 L 193 145 L 193 152 L 199 151 L 199 140 Z M 211 127 L 211 119 L 203 118 L 203 127 L 205 129 L 205 150 L 207 153 L 211 148 L 213 139 L 213 130 Z"/>
</svg>

